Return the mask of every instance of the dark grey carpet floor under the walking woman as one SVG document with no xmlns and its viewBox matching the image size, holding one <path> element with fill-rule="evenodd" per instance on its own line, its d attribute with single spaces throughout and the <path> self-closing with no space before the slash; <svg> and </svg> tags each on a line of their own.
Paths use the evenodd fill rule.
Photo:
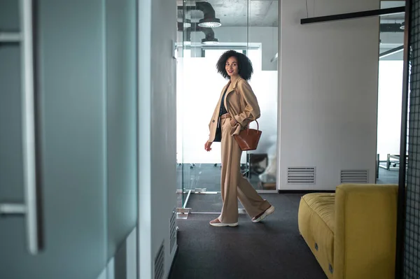
<svg viewBox="0 0 420 279">
<path fill-rule="evenodd" d="M 209 221 L 217 217 L 212 214 L 178 220 L 179 250 L 169 278 L 325 279 L 297 229 L 302 194 L 261 196 L 276 211 L 257 224 L 248 215 L 239 215 L 239 226 L 234 228 L 211 227 Z"/>
</svg>

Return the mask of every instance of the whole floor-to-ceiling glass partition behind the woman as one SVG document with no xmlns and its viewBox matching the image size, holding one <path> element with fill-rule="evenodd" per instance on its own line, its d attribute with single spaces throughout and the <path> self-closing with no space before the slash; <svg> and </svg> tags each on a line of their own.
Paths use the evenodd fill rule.
<svg viewBox="0 0 420 279">
<path fill-rule="evenodd" d="M 255 189 L 276 190 L 278 1 L 184 1 L 178 7 L 177 169 L 179 205 L 220 212 L 221 143 L 204 150 L 209 121 L 228 83 L 216 71 L 227 50 L 247 55 L 249 83 L 261 108 L 258 150 L 243 152 L 241 171 Z M 256 127 L 255 122 L 251 127 Z"/>
</svg>

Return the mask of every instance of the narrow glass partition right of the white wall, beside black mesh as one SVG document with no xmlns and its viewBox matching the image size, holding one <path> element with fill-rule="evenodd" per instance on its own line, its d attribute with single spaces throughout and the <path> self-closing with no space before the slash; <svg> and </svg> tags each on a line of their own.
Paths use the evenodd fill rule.
<svg viewBox="0 0 420 279">
<path fill-rule="evenodd" d="M 405 3 L 381 1 L 381 8 Z M 377 108 L 377 183 L 398 183 L 402 106 L 402 69 L 405 14 L 380 20 L 379 80 Z"/>
</svg>

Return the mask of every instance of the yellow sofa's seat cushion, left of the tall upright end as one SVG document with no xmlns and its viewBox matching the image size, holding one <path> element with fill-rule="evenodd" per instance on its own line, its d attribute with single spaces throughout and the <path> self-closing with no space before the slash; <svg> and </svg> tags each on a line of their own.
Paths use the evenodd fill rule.
<svg viewBox="0 0 420 279">
<path fill-rule="evenodd" d="M 299 231 L 328 278 L 334 269 L 335 194 L 313 193 L 300 200 Z"/>
</svg>

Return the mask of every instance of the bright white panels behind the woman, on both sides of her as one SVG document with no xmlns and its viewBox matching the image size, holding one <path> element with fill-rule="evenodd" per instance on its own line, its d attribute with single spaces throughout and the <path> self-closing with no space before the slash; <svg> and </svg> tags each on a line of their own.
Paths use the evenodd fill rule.
<svg viewBox="0 0 420 279">
<path fill-rule="evenodd" d="M 212 50 L 214 54 L 216 50 Z M 223 53 L 224 50 L 221 51 Z M 208 52 L 207 52 L 208 53 Z M 258 57 L 255 51 L 255 57 Z M 211 152 L 204 150 L 204 143 L 209 138 L 209 121 L 214 112 L 223 86 L 228 83 L 217 73 L 215 64 L 217 55 L 205 58 L 179 59 L 178 71 L 178 162 L 184 164 L 220 164 L 221 145 L 213 143 Z M 256 61 L 258 64 L 258 61 Z M 277 126 L 277 71 L 256 70 L 250 80 L 251 87 L 258 98 L 261 117 L 258 120 L 263 131 L 256 153 L 269 153 L 276 146 Z M 256 127 L 255 122 L 251 127 Z M 182 150 L 182 152 L 180 152 Z M 271 151 L 272 152 L 272 151 Z M 275 152 L 275 148 L 274 148 Z M 246 162 L 243 152 L 241 162 Z"/>
</svg>

